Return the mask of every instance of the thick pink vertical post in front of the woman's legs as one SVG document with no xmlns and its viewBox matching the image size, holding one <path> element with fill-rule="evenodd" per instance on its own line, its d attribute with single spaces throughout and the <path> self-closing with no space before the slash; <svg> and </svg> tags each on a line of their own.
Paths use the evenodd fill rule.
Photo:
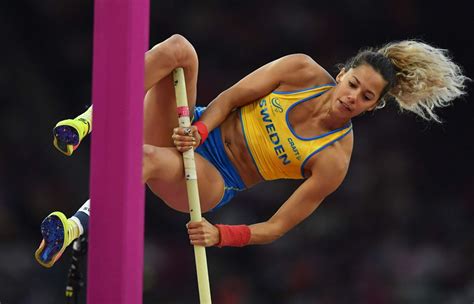
<svg viewBox="0 0 474 304">
<path fill-rule="evenodd" d="M 95 0 L 88 304 L 141 304 L 149 0 Z"/>
</svg>

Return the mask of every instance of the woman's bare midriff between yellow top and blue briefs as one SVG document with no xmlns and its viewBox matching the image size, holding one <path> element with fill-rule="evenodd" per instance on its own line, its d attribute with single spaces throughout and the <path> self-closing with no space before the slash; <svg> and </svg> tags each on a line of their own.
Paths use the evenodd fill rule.
<svg viewBox="0 0 474 304">
<path fill-rule="evenodd" d="M 239 110 L 230 113 L 220 128 L 227 157 L 237 169 L 244 184 L 251 187 L 262 181 L 245 143 Z"/>
</svg>

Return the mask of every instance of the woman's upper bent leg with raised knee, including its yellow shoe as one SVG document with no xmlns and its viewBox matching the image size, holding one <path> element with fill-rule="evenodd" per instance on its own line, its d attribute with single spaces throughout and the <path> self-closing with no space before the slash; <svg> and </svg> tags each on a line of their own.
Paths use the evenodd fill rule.
<svg viewBox="0 0 474 304">
<path fill-rule="evenodd" d="M 196 104 L 198 57 L 192 44 L 173 35 L 145 54 L 144 142 L 173 146 L 171 134 L 177 126 L 172 72 L 184 68 L 190 112 Z M 74 119 L 60 121 L 53 130 L 54 146 L 70 156 L 92 131 L 92 106 Z"/>
</svg>

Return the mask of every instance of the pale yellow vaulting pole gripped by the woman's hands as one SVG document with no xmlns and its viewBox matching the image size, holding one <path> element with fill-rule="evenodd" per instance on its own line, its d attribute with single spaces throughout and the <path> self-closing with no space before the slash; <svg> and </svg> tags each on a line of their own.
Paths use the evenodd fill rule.
<svg viewBox="0 0 474 304">
<path fill-rule="evenodd" d="M 173 71 L 173 79 L 176 93 L 179 126 L 189 128 L 191 126 L 191 120 L 189 116 L 188 97 L 186 94 L 186 83 L 184 80 L 183 68 L 177 68 Z M 191 221 L 200 222 L 202 220 L 201 204 L 199 202 L 196 163 L 194 161 L 193 149 L 183 152 L 183 161 Z M 211 290 L 209 287 L 209 275 L 207 272 L 206 248 L 203 246 L 194 246 L 194 257 L 196 260 L 200 303 L 210 304 Z"/>
</svg>

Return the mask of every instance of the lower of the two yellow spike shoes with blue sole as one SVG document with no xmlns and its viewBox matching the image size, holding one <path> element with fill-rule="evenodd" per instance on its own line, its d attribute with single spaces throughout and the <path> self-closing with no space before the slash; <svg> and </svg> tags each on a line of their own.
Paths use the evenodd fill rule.
<svg viewBox="0 0 474 304">
<path fill-rule="evenodd" d="M 46 268 L 52 267 L 67 246 L 79 236 L 78 229 L 61 212 L 56 211 L 48 215 L 41 223 L 43 240 L 35 252 L 36 261 Z"/>
</svg>

